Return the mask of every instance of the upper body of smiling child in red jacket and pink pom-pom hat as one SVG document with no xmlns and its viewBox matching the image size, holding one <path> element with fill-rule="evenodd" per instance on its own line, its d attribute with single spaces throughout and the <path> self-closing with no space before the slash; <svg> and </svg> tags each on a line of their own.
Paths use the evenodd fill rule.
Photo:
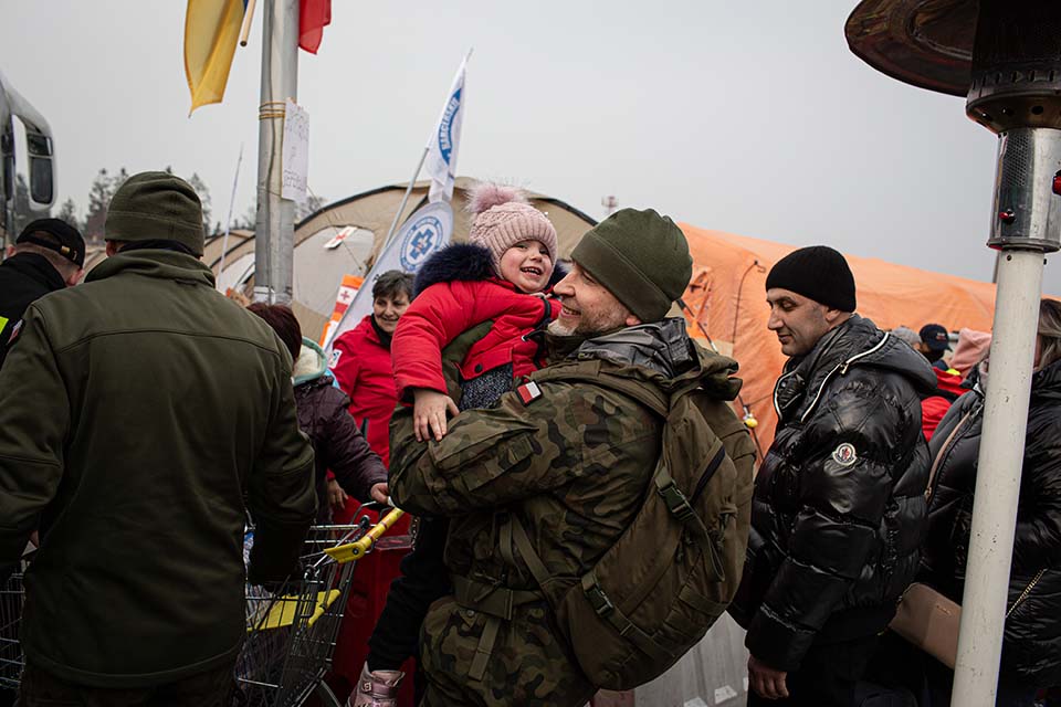
<svg viewBox="0 0 1061 707">
<path fill-rule="evenodd" d="M 469 243 L 433 255 L 417 275 L 416 300 L 391 345 L 398 399 L 413 401 L 417 439 L 441 440 L 447 413 L 485 408 L 513 380 L 540 368 L 537 344 L 525 337 L 551 321 L 559 304 L 544 296 L 553 284 L 556 229 L 516 189 L 481 184 Z M 460 404 L 447 395 L 442 349 L 459 335 L 492 321 L 460 365 Z"/>
</svg>

